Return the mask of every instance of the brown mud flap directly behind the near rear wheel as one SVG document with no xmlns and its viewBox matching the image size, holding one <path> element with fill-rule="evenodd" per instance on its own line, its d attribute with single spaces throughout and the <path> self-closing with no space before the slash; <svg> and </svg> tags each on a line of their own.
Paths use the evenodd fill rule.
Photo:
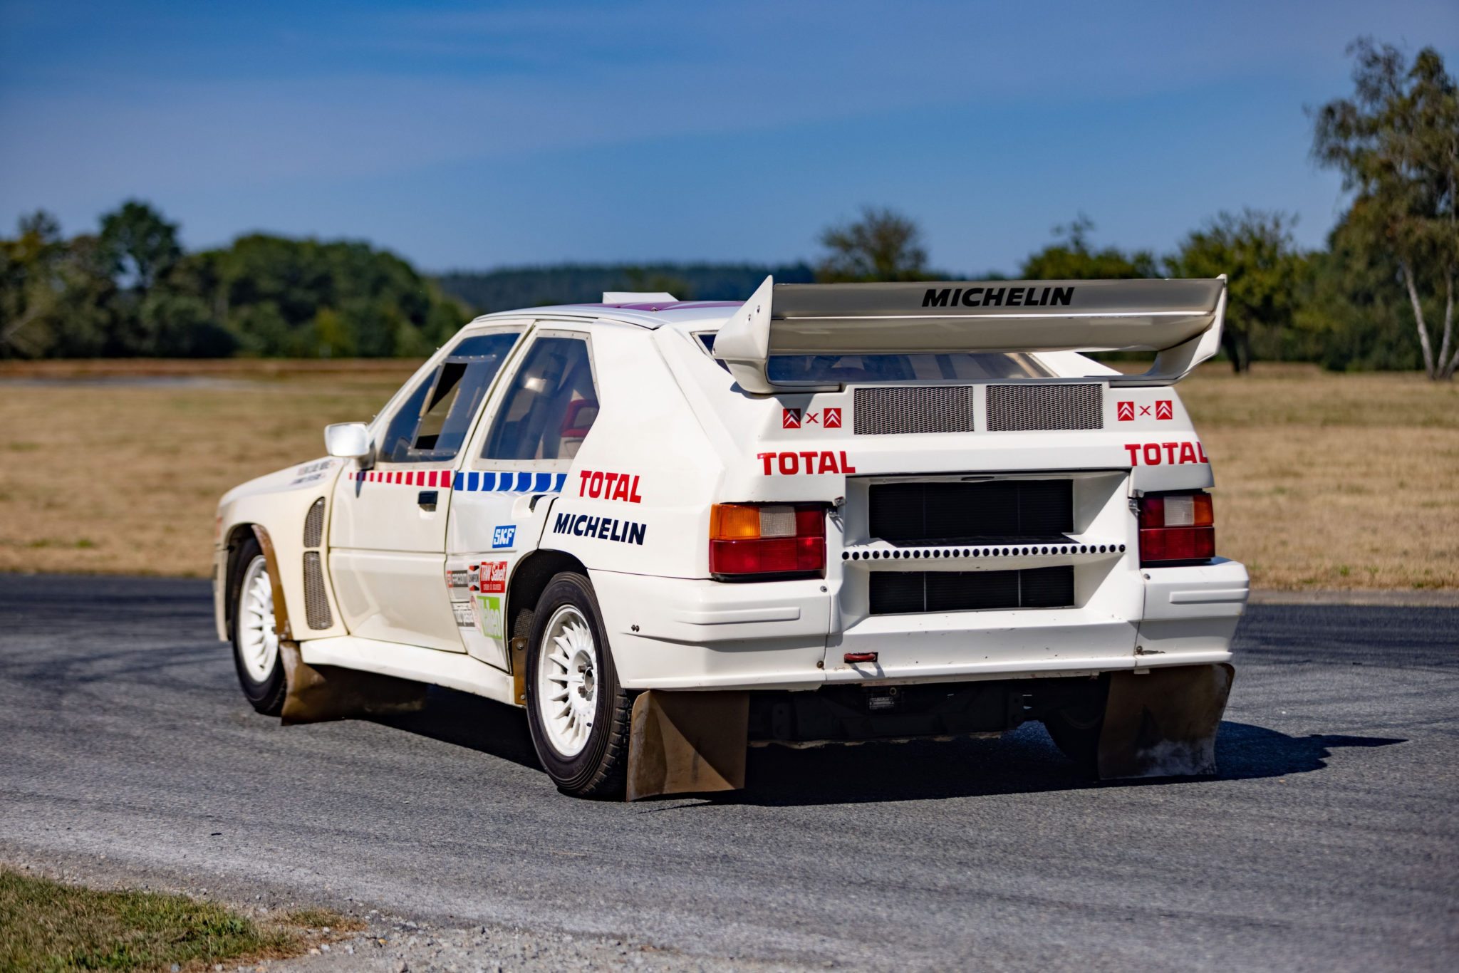
<svg viewBox="0 0 1459 973">
<path fill-rule="evenodd" d="M 748 693 L 641 693 L 629 724 L 627 799 L 738 791 L 748 740 Z"/>
</svg>

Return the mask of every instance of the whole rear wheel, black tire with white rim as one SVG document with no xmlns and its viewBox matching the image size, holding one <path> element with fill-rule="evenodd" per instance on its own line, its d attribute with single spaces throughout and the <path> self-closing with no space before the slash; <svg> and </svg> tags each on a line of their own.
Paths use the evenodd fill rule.
<svg viewBox="0 0 1459 973">
<path fill-rule="evenodd" d="M 527 642 L 527 724 L 563 794 L 611 798 L 627 780 L 632 697 L 619 684 L 592 584 L 575 572 L 547 582 Z"/>
</svg>

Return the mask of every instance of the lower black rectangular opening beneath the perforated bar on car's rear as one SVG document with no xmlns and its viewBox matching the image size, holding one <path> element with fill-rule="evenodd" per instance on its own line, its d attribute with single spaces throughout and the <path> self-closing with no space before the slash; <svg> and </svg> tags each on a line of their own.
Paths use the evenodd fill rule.
<svg viewBox="0 0 1459 973">
<path fill-rule="evenodd" d="M 1069 608 L 1074 565 L 1024 570 L 874 570 L 871 614 Z"/>
</svg>

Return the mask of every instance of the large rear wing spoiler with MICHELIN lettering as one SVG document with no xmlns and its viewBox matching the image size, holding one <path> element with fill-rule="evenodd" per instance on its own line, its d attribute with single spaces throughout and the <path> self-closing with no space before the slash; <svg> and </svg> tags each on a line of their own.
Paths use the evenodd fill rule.
<svg viewBox="0 0 1459 973">
<path fill-rule="evenodd" d="M 775 382 L 773 354 L 1156 352 L 1110 385 L 1174 385 L 1221 349 L 1226 274 L 1214 280 L 943 280 L 778 284 L 772 277 L 715 336 L 715 357 L 747 392 Z"/>
</svg>

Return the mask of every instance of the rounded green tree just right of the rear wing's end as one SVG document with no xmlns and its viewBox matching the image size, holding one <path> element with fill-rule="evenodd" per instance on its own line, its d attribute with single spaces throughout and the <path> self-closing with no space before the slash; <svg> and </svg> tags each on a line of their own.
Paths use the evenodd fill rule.
<svg viewBox="0 0 1459 973">
<path fill-rule="evenodd" d="M 1252 336 L 1280 340 L 1293 325 L 1307 261 L 1293 242 L 1297 217 L 1246 209 L 1221 212 L 1166 258 L 1172 277 L 1227 276 L 1221 343 L 1240 373 L 1252 368 Z"/>
</svg>

